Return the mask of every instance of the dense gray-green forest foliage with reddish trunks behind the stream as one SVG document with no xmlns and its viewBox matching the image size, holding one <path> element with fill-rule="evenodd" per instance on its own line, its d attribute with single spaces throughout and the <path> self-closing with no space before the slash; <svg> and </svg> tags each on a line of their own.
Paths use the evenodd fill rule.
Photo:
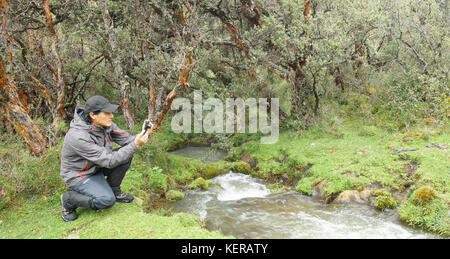
<svg viewBox="0 0 450 259">
<path fill-rule="evenodd" d="M 54 32 L 43 9 L 37 2 L 8 3 L 2 33 L 15 41 L 4 35 L 2 46 L 9 46 L 6 72 L 23 106 L 32 119 L 51 120 L 54 135 L 67 129 L 60 117 L 68 125 L 75 106 L 93 94 L 148 117 L 149 85 L 159 109 L 191 52 L 184 96 L 199 89 L 219 99 L 277 97 L 288 127 L 305 129 L 320 121 L 314 117 L 332 116 L 330 99 L 381 124 L 395 117 L 387 125 L 393 129 L 447 119 L 444 1 L 55 0 Z M 129 117 L 124 114 L 127 123 Z"/>
</svg>

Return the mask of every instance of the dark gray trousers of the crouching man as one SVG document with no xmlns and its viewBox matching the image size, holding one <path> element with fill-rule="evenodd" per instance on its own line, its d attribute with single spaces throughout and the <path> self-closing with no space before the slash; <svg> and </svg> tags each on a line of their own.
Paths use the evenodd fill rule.
<svg viewBox="0 0 450 259">
<path fill-rule="evenodd" d="M 120 192 L 125 173 L 130 168 L 133 156 L 115 168 L 101 168 L 71 187 L 72 191 L 90 197 L 89 207 L 94 210 L 106 209 L 116 202 L 115 193 Z M 106 179 L 105 179 L 106 176 Z"/>
</svg>

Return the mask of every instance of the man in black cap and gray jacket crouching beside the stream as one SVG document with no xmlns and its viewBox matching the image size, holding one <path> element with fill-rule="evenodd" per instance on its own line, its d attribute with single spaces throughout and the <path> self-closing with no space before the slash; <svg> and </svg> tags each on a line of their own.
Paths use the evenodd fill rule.
<svg viewBox="0 0 450 259">
<path fill-rule="evenodd" d="M 102 96 L 92 96 L 75 108 L 61 151 L 60 175 L 69 187 L 60 197 L 64 221 L 75 220 L 78 207 L 98 210 L 134 199 L 121 191 L 120 184 L 134 152 L 147 143 L 152 130 L 143 126 L 141 133 L 130 136 L 119 129 L 112 122 L 117 107 Z M 121 148 L 113 149 L 113 142 Z"/>
</svg>

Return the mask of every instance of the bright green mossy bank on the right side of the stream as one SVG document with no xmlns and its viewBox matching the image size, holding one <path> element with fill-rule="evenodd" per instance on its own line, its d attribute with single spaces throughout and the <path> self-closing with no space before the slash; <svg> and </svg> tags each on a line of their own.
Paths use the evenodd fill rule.
<svg viewBox="0 0 450 259">
<path fill-rule="evenodd" d="M 230 157 L 251 157 L 258 161 L 252 169 L 253 175 L 287 183 L 306 195 L 311 195 L 314 187 L 325 180 L 321 194 L 327 202 L 344 190 L 372 190 L 371 201 L 376 208 L 396 209 L 401 205 L 405 222 L 448 236 L 448 150 L 427 147 L 427 144 L 448 143 L 449 139 L 446 126 L 389 132 L 377 126 L 346 121 L 339 127 L 284 131 L 273 145 L 250 141 L 233 150 Z M 395 147 L 417 149 L 399 152 L 393 150 Z M 439 220 L 415 224 L 419 220 L 414 218 L 431 212 L 416 209 L 415 213 L 405 204 L 409 204 L 408 197 L 423 186 L 430 186 L 436 192 L 435 201 L 439 201 L 441 209 L 436 212 L 439 215 L 432 217 Z"/>
</svg>

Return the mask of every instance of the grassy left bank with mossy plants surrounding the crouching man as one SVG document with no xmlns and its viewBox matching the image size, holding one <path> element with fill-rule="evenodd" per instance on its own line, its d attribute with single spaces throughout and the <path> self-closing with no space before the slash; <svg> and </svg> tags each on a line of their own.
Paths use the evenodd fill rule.
<svg viewBox="0 0 450 259">
<path fill-rule="evenodd" d="M 232 238 L 207 230 L 196 215 L 157 206 L 179 198 L 180 190 L 202 177 L 205 170 L 195 159 L 166 153 L 185 145 L 186 136 L 161 131 L 135 153 L 122 182 L 122 190 L 135 195 L 135 201 L 99 211 L 79 208 L 78 219 L 71 222 L 60 216 L 59 195 L 67 189 L 59 177 L 62 139 L 36 158 L 27 153 L 20 139 L 1 137 L 5 141 L 0 146 L 4 169 L 0 179 L 0 238 Z M 159 203 L 151 200 L 155 195 Z"/>
</svg>

